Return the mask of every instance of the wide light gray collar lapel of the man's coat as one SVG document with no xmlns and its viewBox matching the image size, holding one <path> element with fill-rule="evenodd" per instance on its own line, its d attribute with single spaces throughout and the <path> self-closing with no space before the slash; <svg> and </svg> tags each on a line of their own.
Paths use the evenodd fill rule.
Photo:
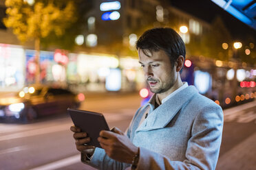
<svg viewBox="0 0 256 170">
<path fill-rule="evenodd" d="M 175 96 L 168 99 L 163 104 L 158 106 L 153 112 L 149 114 L 147 119 L 142 122 L 142 124 L 138 127 L 136 132 L 138 131 L 148 131 L 165 127 L 175 114 L 186 104 L 187 101 L 198 93 L 198 90 L 195 86 L 188 86 L 184 88 Z"/>
</svg>

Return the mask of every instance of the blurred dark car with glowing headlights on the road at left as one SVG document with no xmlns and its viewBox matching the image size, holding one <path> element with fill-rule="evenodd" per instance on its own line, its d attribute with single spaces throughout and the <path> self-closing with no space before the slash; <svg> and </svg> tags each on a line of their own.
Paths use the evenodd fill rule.
<svg viewBox="0 0 256 170">
<path fill-rule="evenodd" d="M 83 93 L 75 95 L 63 88 L 25 87 L 13 97 L 1 97 L 0 119 L 31 122 L 39 117 L 66 113 L 67 108 L 78 108 L 84 99 Z"/>
</svg>

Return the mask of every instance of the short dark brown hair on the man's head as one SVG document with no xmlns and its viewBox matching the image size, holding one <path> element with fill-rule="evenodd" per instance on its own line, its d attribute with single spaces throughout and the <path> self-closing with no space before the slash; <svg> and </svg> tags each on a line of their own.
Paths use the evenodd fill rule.
<svg viewBox="0 0 256 170">
<path fill-rule="evenodd" d="M 147 55 L 145 50 L 159 51 L 162 49 L 169 56 L 172 66 L 174 66 L 179 56 L 186 58 L 184 41 L 177 32 L 169 27 L 157 27 L 147 30 L 136 42 L 136 49 L 142 49 L 145 55 Z"/>
</svg>

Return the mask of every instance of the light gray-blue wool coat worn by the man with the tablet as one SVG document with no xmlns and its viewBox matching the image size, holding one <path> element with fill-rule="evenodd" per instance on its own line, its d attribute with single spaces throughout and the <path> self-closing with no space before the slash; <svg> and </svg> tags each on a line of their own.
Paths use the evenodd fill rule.
<svg viewBox="0 0 256 170">
<path fill-rule="evenodd" d="M 140 125 L 147 107 L 138 109 L 127 136 L 140 147 L 137 169 L 215 169 L 222 139 L 222 108 L 189 86 L 165 101 Z M 125 169 L 97 148 L 89 165 Z"/>
</svg>

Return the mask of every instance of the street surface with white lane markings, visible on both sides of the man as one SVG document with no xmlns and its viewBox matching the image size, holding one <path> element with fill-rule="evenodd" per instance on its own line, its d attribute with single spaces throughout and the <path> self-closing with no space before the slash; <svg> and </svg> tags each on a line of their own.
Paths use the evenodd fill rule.
<svg viewBox="0 0 256 170">
<path fill-rule="evenodd" d="M 138 94 L 111 93 L 87 97 L 81 109 L 102 112 L 109 127 L 116 126 L 125 131 L 140 101 Z M 224 110 L 224 134 L 217 169 L 250 169 L 256 166 L 255 146 L 248 145 L 256 143 L 255 102 Z M 93 169 L 80 162 L 70 125 L 72 121 L 66 114 L 27 125 L 0 123 L 0 169 Z"/>
</svg>

